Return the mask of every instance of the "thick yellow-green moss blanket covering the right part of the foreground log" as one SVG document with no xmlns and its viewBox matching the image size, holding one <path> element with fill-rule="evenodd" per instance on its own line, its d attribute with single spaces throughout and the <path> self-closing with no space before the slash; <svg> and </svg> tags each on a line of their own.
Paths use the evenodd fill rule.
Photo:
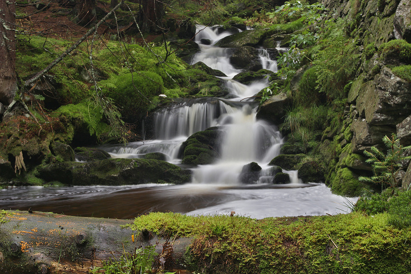
<svg viewBox="0 0 411 274">
<path fill-rule="evenodd" d="M 241 216 L 150 213 L 132 229 L 194 237 L 189 256 L 198 272 L 392 273 L 409 272 L 409 228 L 388 223 L 387 213 L 255 220 Z M 206 269 L 207 268 L 207 269 Z"/>
</svg>

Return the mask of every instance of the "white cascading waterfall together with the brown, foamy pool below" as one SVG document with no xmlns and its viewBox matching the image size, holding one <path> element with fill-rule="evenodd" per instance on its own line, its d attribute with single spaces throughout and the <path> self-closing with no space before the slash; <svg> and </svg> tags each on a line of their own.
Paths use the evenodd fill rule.
<svg viewBox="0 0 411 274">
<path fill-rule="evenodd" d="M 167 161 L 179 164 L 179 150 L 191 134 L 212 126 L 224 132 L 219 159 L 210 165 L 192 168 L 192 182 L 186 185 L 15 187 L 0 191 L 0 208 L 53 211 L 78 216 L 133 218 L 152 211 L 186 214 L 220 214 L 232 210 L 252 218 L 335 214 L 348 210 L 343 197 L 331 194 L 323 184 L 302 184 L 296 171 L 285 170 L 291 183 L 273 185 L 268 163 L 282 145 L 283 138 L 274 125 L 256 119 L 257 105 L 252 96 L 268 85 L 268 80 L 250 85 L 232 78 L 241 72 L 230 64 L 230 50 L 215 47 L 232 33 L 197 26 L 200 51 L 194 63 L 203 62 L 221 70 L 221 77 L 232 99 L 184 101 L 154 115 L 153 140 L 126 146 L 103 146 L 113 158 L 141 158 L 145 153 L 161 152 Z M 205 45 L 203 43 L 209 44 Z M 283 49 L 281 49 L 283 50 Z M 263 68 L 277 71 L 266 49 L 259 49 Z M 241 184 L 242 168 L 256 162 L 262 168 L 253 184 Z M 339 209 L 340 208 L 340 209 Z"/>
</svg>

